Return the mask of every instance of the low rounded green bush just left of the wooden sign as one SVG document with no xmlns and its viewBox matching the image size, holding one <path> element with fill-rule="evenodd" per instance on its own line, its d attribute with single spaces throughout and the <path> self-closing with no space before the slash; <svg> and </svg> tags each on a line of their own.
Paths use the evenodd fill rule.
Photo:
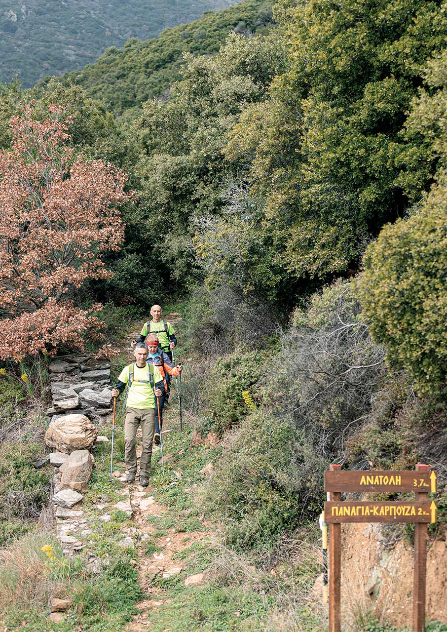
<svg viewBox="0 0 447 632">
<path fill-rule="evenodd" d="M 230 435 L 200 502 L 227 543 L 268 549 L 321 511 L 326 465 L 294 425 L 258 411 Z"/>
</svg>

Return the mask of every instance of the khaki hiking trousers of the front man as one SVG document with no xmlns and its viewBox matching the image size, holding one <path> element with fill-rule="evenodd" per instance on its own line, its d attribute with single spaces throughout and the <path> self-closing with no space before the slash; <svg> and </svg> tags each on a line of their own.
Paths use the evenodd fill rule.
<svg viewBox="0 0 447 632">
<path fill-rule="evenodd" d="M 135 437 L 141 424 L 143 435 L 143 450 L 140 459 L 140 477 L 150 474 L 150 459 L 152 457 L 152 441 L 155 432 L 155 410 L 153 408 L 127 408 L 124 422 L 124 452 L 126 454 L 126 468 L 128 472 L 136 474 Z"/>
</svg>

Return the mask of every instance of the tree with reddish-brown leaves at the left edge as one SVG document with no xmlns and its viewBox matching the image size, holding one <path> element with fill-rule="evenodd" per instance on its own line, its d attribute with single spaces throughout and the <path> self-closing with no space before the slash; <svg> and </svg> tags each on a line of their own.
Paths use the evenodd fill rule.
<svg viewBox="0 0 447 632">
<path fill-rule="evenodd" d="M 0 151 L 0 358 L 18 359 L 60 344 L 83 348 L 100 323 L 75 306 L 87 279 L 107 279 L 102 256 L 119 250 L 119 205 L 127 176 L 101 160 L 76 156 L 70 119 L 55 104 L 44 121 L 33 102 L 11 119 L 13 140 Z"/>
</svg>

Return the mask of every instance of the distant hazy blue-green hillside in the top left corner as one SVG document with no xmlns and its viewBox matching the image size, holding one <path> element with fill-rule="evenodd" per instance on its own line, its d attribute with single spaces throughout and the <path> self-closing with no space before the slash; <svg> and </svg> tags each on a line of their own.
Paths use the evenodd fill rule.
<svg viewBox="0 0 447 632">
<path fill-rule="evenodd" d="M 0 80 L 32 87 L 45 75 L 83 68 L 129 37 L 156 37 L 231 0 L 1 0 Z"/>
</svg>

